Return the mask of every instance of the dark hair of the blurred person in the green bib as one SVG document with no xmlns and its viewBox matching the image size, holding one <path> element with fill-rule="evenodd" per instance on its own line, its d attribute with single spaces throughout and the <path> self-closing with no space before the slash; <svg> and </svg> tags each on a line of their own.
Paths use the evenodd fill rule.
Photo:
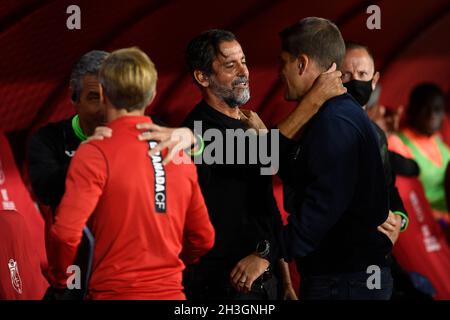
<svg viewBox="0 0 450 320">
<path fill-rule="evenodd" d="M 411 91 L 406 109 L 406 118 L 410 124 L 414 125 L 414 120 L 420 114 L 421 109 L 435 96 L 444 98 L 444 93 L 434 83 L 421 83 Z"/>
</svg>

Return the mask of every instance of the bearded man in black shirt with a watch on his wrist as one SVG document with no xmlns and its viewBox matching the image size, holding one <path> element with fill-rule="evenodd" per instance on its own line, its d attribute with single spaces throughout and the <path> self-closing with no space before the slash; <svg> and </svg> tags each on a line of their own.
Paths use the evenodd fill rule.
<svg viewBox="0 0 450 320">
<path fill-rule="evenodd" d="M 250 99 L 249 71 L 235 36 L 225 30 L 208 30 L 188 45 L 186 60 L 202 101 L 190 112 L 185 125 L 203 132 L 262 129 L 265 125 L 249 110 L 239 109 Z M 324 76 L 312 95 L 280 126 L 286 135 L 296 133 L 331 96 L 345 91 L 340 73 Z M 337 85 L 336 85 L 337 83 Z M 329 86 L 330 88 L 328 88 Z M 322 90 L 327 87 L 328 90 Z M 300 111 L 299 111 L 300 110 Z M 283 131 L 282 131 L 283 132 Z M 234 142 L 227 141 L 233 144 Z M 235 145 L 233 145 L 235 148 Z M 246 144 L 248 155 L 249 144 Z M 190 299 L 274 299 L 277 297 L 275 269 L 281 257 L 281 218 L 272 191 L 271 176 L 260 174 L 260 165 L 198 164 L 199 183 L 216 230 L 213 249 L 185 274 Z M 242 150 L 241 150 L 242 151 Z M 228 149 L 223 149 L 227 158 Z M 239 151 L 238 151 L 239 152 Z M 276 155 L 277 156 L 277 155 Z M 228 161 L 227 161 L 228 162 Z M 285 298 L 296 298 L 285 263 L 280 263 Z"/>
</svg>

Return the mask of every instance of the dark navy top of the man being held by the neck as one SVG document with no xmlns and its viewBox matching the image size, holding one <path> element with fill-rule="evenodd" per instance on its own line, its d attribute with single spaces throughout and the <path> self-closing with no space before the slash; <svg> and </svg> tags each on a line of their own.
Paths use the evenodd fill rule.
<svg viewBox="0 0 450 320">
<path fill-rule="evenodd" d="M 280 157 L 295 194 L 286 255 L 301 274 L 386 266 L 392 243 L 377 227 L 388 216 L 388 188 L 376 133 L 357 102 L 348 94 L 328 100 L 298 143 L 281 136 Z"/>
</svg>

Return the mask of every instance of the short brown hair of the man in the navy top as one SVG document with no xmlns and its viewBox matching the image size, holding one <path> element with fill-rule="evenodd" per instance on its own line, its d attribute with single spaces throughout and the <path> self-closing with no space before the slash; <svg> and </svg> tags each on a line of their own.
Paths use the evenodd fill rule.
<svg viewBox="0 0 450 320">
<path fill-rule="evenodd" d="M 280 38 L 283 51 L 294 57 L 306 54 L 325 70 L 333 62 L 339 69 L 344 61 L 344 39 L 338 27 L 330 20 L 304 18 L 281 31 Z"/>
</svg>

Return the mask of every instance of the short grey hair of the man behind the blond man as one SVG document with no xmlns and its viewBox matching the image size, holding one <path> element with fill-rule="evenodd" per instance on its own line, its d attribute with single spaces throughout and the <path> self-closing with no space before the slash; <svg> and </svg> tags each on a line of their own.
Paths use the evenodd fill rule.
<svg viewBox="0 0 450 320">
<path fill-rule="evenodd" d="M 70 87 L 72 88 L 72 101 L 80 100 L 81 90 L 83 89 L 83 77 L 87 74 L 98 75 L 103 61 L 109 53 L 101 50 L 92 50 L 84 54 L 72 68 L 70 74 Z"/>
</svg>

